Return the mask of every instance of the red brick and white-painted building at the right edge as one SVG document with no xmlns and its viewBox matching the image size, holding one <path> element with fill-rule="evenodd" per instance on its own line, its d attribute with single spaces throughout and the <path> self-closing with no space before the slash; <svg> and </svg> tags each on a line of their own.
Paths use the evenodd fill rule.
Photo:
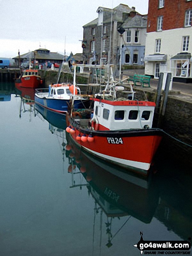
<svg viewBox="0 0 192 256">
<path fill-rule="evenodd" d="M 149 0 L 145 74 L 192 82 L 192 1 Z"/>
</svg>

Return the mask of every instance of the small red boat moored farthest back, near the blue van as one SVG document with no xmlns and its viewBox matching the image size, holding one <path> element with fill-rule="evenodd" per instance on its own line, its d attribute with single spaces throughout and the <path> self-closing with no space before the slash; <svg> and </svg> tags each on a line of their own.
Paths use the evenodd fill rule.
<svg viewBox="0 0 192 256">
<path fill-rule="evenodd" d="M 26 69 L 22 71 L 22 76 L 15 80 L 15 85 L 26 88 L 39 88 L 43 81 L 35 69 Z"/>
</svg>

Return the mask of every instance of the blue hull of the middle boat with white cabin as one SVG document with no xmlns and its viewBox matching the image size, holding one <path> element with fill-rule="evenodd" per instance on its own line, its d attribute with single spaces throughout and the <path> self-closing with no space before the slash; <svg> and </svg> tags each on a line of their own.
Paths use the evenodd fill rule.
<svg viewBox="0 0 192 256">
<path fill-rule="evenodd" d="M 47 99 L 46 97 L 41 98 L 35 94 L 35 103 L 43 106 L 44 108 L 50 109 L 51 111 L 55 111 L 58 113 L 67 113 L 68 106 L 69 106 L 69 99 Z M 75 108 L 83 108 L 84 105 L 81 100 L 74 100 L 74 107 Z"/>
</svg>

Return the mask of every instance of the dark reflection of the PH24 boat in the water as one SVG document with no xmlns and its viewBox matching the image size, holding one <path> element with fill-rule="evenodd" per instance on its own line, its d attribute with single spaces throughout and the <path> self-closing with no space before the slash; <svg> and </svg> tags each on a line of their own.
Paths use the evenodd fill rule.
<svg viewBox="0 0 192 256">
<path fill-rule="evenodd" d="M 86 186 L 88 192 L 95 201 L 95 215 L 104 214 L 107 220 L 106 226 L 107 242 L 106 246 L 112 246 L 112 221 L 115 217 L 128 216 L 123 226 L 131 217 L 137 218 L 141 222 L 150 223 L 158 206 L 159 196 L 154 190 L 151 176 L 141 177 L 129 173 L 126 169 L 114 167 L 106 164 L 105 161 L 91 156 L 87 152 L 82 152 L 76 147 L 66 133 L 67 146 L 66 157 L 69 160 L 68 173 L 71 173 L 71 188 Z M 78 170 L 77 170 L 78 169 Z M 83 175 L 84 182 L 77 184 L 77 175 Z M 122 226 L 122 227 L 123 227 Z M 122 227 L 119 227 L 121 229 Z"/>
</svg>

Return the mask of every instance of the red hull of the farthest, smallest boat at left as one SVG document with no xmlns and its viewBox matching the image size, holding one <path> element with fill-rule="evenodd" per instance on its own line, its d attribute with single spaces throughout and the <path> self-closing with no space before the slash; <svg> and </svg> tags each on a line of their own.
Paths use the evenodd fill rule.
<svg viewBox="0 0 192 256">
<path fill-rule="evenodd" d="M 15 85 L 26 88 L 38 88 L 40 87 L 42 80 L 39 76 L 26 76 L 15 80 Z"/>
</svg>

